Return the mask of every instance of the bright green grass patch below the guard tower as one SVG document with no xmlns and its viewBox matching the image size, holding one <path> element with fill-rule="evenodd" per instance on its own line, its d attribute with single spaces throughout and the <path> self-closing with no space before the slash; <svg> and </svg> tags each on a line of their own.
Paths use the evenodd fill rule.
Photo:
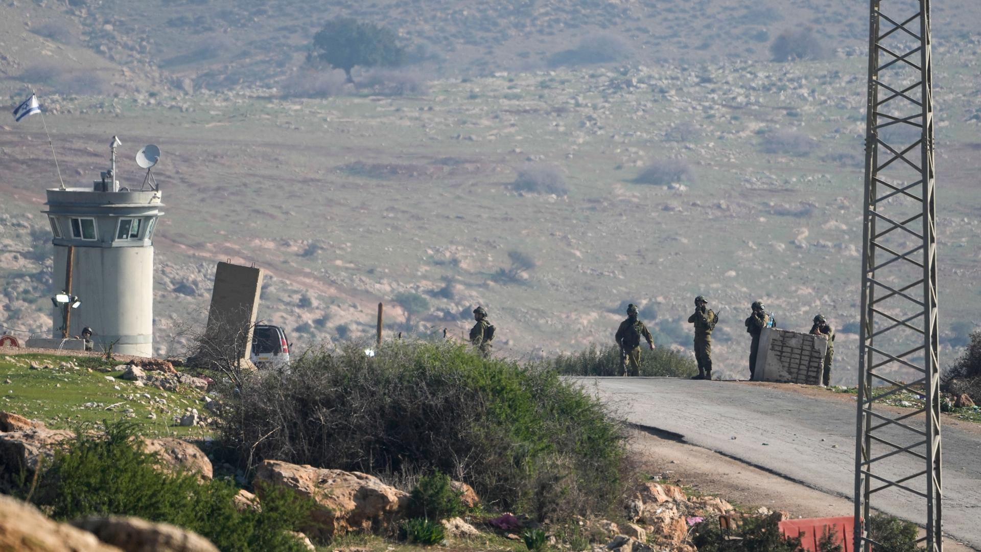
<svg viewBox="0 0 981 552">
<path fill-rule="evenodd" d="M 30 361 L 52 368 L 32 370 Z M 62 362 L 74 362 L 80 367 L 62 368 Z M 201 437 L 208 433 L 201 427 L 177 426 L 173 420 L 174 415 L 183 414 L 187 407 L 206 414 L 201 391 L 184 389 L 184 386 L 176 393 L 150 386 L 137 387 L 120 379 L 123 371 L 115 369 L 120 364 L 91 358 L 0 355 L 0 410 L 39 419 L 54 429 L 129 419 L 147 437 Z M 114 369 L 109 372 L 97 369 L 103 366 Z M 115 381 L 107 380 L 106 376 Z M 7 380 L 10 383 L 5 383 Z M 166 405 L 160 400 L 166 401 Z M 107 410 L 109 407 L 112 408 Z M 127 415 L 127 409 L 132 409 L 132 417 Z M 149 414 L 155 414 L 156 419 L 150 419 Z"/>
</svg>

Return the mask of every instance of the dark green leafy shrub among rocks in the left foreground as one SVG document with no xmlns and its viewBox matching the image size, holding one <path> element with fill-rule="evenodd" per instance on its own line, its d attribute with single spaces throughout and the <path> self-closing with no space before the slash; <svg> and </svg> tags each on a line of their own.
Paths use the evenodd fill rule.
<svg viewBox="0 0 981 552">
<path fill-rule="evenodd" d="M 107 423 L 104 432 L 86 429 L 79 428 L 67 451 L 55 455 L 30 495 L 51 517 L 136 516 L 195 531 L 222 550 L 304 550 L 288 531 L 306 521 L 310 501 L 270 488 L 262 512 L 239 512 L 231 481 L 200 482 L 192 473 L 161 469 L 157 457 L 133 446 L 133 424 Z"/>
</svg>

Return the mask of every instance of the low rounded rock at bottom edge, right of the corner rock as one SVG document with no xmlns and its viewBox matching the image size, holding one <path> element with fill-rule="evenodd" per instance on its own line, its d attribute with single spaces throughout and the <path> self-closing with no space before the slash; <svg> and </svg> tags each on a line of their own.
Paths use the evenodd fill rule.
<svg viewBox="0 0 981 552">
<path fill-rule="evenodd" d="M 172 524 L 115 516 L 82 518 L 72 524 L 127 552 L 218 552 L 208 539 Z"/>
</svg>

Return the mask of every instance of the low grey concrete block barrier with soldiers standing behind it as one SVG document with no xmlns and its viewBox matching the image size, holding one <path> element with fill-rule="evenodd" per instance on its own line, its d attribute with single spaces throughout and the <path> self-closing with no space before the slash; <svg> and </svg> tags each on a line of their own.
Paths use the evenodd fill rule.
<svg viewBox="0 0 981 552">
<path fill-rule="evenodd" d="M 753 381 L 820 385 L 828 340 L 809 333 L 763 328 Z"/>
</svg>

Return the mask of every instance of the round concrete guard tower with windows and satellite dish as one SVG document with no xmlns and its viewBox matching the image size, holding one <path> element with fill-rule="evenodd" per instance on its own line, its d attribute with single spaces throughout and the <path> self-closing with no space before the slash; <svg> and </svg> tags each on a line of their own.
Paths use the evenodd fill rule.
<svg viewBox="0 0 981 552">
<path fill-rule="evenodd" d="M 137 164 L 147 169 L 138 191 L 120 187 L 116 180 L 116 147 L 110 145 L 111 168 L 90 188 L 47 191 L 48 215 L 54 258 L 54 293 L 68 292 L 80 304 L 65 316 L 54 306 L 52 336 L 79 335 L 94 330 L 95 351 L 112 346 L 113 353 L 153 355 L 153 231 L 161 193 L 150 168 L 160 150 L 148 145 L 137 154 Z M 72 267 L 69 259 L 74 259 Z M 71 288 L 71 289 L 69 289 Z M 70 318 L 68 328 L 63 320 Z"/>
</svg>

